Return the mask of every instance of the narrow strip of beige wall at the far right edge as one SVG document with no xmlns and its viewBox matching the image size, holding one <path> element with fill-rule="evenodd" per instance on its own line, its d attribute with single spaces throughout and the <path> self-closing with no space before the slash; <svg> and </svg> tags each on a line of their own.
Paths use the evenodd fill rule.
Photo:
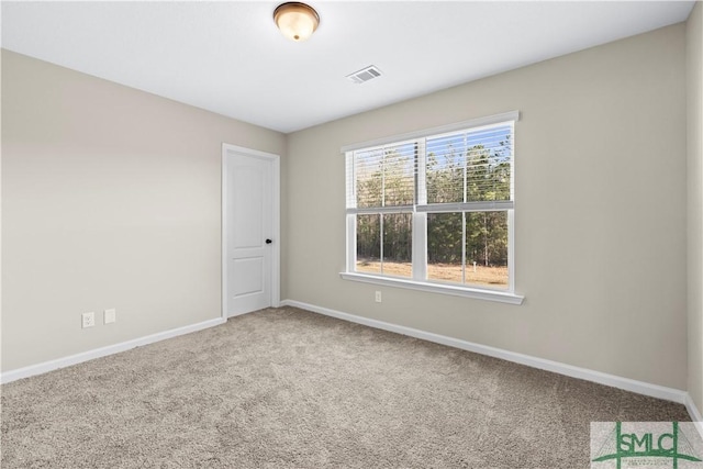
<svg viewBox="0 0 703 469">
<path fill-rule="evenodd" d="M 687 23 L 689 386 L 703 412 L 703 4 Z"/>
</svg>

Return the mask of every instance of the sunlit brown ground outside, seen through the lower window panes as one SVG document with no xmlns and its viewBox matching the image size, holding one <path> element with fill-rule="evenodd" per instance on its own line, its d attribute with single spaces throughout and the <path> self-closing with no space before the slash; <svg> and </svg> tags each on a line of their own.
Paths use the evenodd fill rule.
<svg viewBox="0 0 703 469">
<path fill-rule="evenodd" d="M 381 263 L 378 260 L 358 260 L 356 270 L 366 273 L 381 273 Z M 411 277 L 410 263 L 383 263 L 383 275 Z M 461 283 L 460 264 L 428 264 L 427 279 Z M 466 266 L 466 283 L 488 287 L 507 287 L 507 267 Z"/>
</svg>

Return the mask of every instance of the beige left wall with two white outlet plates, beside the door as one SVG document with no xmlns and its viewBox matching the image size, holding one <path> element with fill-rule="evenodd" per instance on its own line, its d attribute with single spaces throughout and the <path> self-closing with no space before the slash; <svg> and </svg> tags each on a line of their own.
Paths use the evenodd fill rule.
<svg viewBox="0 0 703 469">
<path fill-rule="evenodd" d="M 7 51 L 2 124 L 3 371 L 221 315 L 221 145 L 284 135 Z"/>
</svg>

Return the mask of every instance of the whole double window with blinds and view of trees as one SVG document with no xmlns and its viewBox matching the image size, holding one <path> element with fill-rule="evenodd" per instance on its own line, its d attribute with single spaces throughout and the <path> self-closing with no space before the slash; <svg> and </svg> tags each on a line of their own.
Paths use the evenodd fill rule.
<svg viewBox="0 0 703 469">
<path fill-rule="evenodd" d="M 517 112 L 343 148 L 344 278 L 522 302 L 513 278 Z"/>
</svg>

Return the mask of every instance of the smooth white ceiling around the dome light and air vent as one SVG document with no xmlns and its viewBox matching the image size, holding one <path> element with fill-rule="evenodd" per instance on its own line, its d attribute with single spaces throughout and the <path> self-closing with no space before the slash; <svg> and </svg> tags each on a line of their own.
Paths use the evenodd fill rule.
<svg viewBox="0 0 703 469">
<path fill-rule="evenodd" d="M 684 21 L 693 1 L 310 1 L 304 43 L 280 2 L 2 1 L 2 47 L 280 132 Z M 345 76 L 376 65 L 383 76 Z M 652 64 L 654 66 L 654 64 Z"/>
</svg>

